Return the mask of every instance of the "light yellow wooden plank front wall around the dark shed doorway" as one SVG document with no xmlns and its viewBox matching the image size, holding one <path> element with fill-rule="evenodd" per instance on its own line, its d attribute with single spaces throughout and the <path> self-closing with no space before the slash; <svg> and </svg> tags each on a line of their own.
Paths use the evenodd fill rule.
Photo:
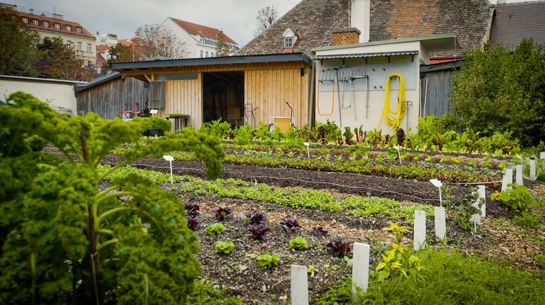
<svg viewBox="0 0 545 305">
<path fill-rule="evenodd" d="M 308 73 L 301 76 L 301 68 Z M 197 80 L 173 80 L 166 82 L 165 109 L 167 113 L 187 113 L 195 128 L 202 124 L 202 73 L 244 71 L 244 104 L 258 107 L 254 113 L 256 122 L 269 123 L 273 116 L 289 117 L 288 101 L 294 108 L 296 126 L 308 122 L 308 85 L 310 66 L 303 62 L 230 64 L 219 66 L 188 66 L 153 69 L 149 73 L 198 73 Z M 142 72 L 139 72 L 142 73 Z M 130 73 L 127 73 L 130 75 Z"/>
</svg>

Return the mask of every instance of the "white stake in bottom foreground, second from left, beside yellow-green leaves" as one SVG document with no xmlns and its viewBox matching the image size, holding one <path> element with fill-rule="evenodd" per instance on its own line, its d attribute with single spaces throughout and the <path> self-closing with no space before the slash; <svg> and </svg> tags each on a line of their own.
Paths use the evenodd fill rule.
<svg viewBox="0 0 545 305">
<path fill-rule="evenodd" d="M 354 301 L 358 291 L 365 293 L 369 285 L 369 257 L 371 246 L 368 243 L 354 243 L 354 260 L 352 264 L 352 295 Z"/>
</svg>

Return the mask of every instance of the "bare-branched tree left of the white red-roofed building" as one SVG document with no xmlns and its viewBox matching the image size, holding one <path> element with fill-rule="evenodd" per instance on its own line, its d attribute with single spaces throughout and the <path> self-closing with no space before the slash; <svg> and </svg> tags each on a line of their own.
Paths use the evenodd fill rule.
<svg viewBox="0 0 545 305">
<path fill-rule="evenodd" d="M 187 56 L 187 43 L 181 41 L 168 27 L 160 24 L 146 24 L 139 27 L 134 36 L 141 39 L 142 60 L 164 56 L 172 59 Z"/>
</svg>

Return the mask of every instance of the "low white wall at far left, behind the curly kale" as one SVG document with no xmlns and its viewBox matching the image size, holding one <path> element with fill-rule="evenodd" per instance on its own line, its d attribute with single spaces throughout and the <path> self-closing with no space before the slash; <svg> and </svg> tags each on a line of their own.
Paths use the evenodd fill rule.
<svg viewBox="0 0 545 305">
<path fill-rule="evenodd" d="M 75 83 L 0 76 L 0 99 L 5 101 L 13 92 L 22 91 L 47 102 L 55 110 L 64 108 L 76 114 Z"/>
</svg>

